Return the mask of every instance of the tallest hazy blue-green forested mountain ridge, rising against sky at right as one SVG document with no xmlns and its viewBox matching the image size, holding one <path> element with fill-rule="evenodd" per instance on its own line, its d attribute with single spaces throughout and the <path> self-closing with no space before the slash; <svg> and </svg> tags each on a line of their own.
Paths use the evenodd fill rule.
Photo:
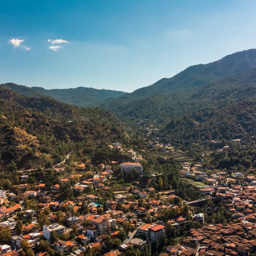
<svg viewBox="0 0 256 256">
<path fill-rule="evenodd" d="M 151 86 L 140 88 L 115 100 L 108 100 L 100 106 L 111 110 L 120 118 L 169 116 L 168 112 L 172 109 L 178 110 L 181 106 L 185 106 L 184 109 L 192 107 L 190 100 L 194 100 L 195 96 L 204 97 L 210 92 L 206 91 L 208 88 L 215 90 L 217 85 L 214 87 L 214 82 L 221 83 L 218 90 L 223 92 L 217 93 L 222 94 L 221 98 L 225 98 L 228 96 L 225 93 L 230 89 L 228 86 L 232 84 L 232 79 L 239 79 L 236 84 L 244 84 L 243 76 L 236 78 L 236 75 L 250 72 L 253 68 L 256 68 L 256 49 L 236 52 L 216 62 L 190 66 L 172 78 L 163 78 Z M 224 78 L 230 81 L 225 82 Z M 245 79 L 246 83 L 250 82 L 249 77 Z"/>
</svg>

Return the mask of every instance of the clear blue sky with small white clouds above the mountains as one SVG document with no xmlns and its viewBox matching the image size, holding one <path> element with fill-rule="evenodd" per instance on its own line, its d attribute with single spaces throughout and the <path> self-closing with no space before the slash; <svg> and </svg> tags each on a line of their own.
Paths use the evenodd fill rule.
<svg viewBox="0 0 256 256">
<path fill-rule="evenodd" d="M 132 92 L 256 48 L 255 10 L 254 0 L 1 1 L 0 83 Z"/>
</svg>

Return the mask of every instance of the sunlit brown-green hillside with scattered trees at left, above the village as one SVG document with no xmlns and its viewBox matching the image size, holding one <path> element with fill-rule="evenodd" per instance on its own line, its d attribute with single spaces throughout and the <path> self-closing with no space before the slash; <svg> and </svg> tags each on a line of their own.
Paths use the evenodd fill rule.
<svg viewBox="0 0 256 256">
<path fill-rule="evenodd" d="M 0 88 L 0 166 L 19 168 L 61 162 L 69 152 L 112 141 L 129 130 L 112 114 Z M 131 137 L 132 138 L 132 137 Z"/>
</svg>

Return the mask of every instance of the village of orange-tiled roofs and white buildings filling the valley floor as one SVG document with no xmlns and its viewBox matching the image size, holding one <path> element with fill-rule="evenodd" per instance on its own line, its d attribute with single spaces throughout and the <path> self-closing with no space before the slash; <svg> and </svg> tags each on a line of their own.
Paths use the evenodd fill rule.
<svg viewBox="0 0 256 256">
<path fill-rule="evenodd" d="M 155 145 L 159 147 L 158 142 L 150 142 L 149 146 Z M 120 143 L 109 148 L 123 151 Z M 159 244 L 164 246 L 161 256 L 254 253 L 254 176 L 240 172 L 206 174 L 200 164 L 182 162 L 180 179 L 196 187 L 199 196 L 194 201 L 185 201 L 174 190 L 161 192 L 150 182 L 145 186 L 133 182 L 130 188 L 114 191 L 114 169 L 120 168 L 122 175 L 136 173 L 138 178 L 144 173 L 142 156 L 136 157 L 132 149 L 127 151 L 134 162 L 98 164 L 97 173 L 95 168 L 90 169 L 90 160 L 77 164 L 76 171 L 70 174 L 64 165 L 52 166 L 48 172 L 60 178 L 51 187 L 43 180 L 33 186 L 28 184 L 28 173 L 19 176 L 19 184 L 0 190 L 1 256 L 30 256 L 30 250 L 36 256 L 79 256 L 88 250 L 96 255 L 114 256 L 125 255 L 129 248 L 144 248 L 151 255 Z M 156 176 L 159 174 L 151 174 Z M 65 194 L 68 190 L 73 200 Z M 221 204 L 225 214 L 229 214 L 228 223 L 224 220 L 220 224 L 220 220 L 218 224 L 207 224 L 202 209 L 213 204 Z M 224 218 L 223 212 L 219 215 Z M 191 227 L 191 223 L 195 226 Z M 185 227 L 189 228 L 186 237 L 177 244 L 166 242 L 174 238 L 175 230 Z"/>
</svg>

